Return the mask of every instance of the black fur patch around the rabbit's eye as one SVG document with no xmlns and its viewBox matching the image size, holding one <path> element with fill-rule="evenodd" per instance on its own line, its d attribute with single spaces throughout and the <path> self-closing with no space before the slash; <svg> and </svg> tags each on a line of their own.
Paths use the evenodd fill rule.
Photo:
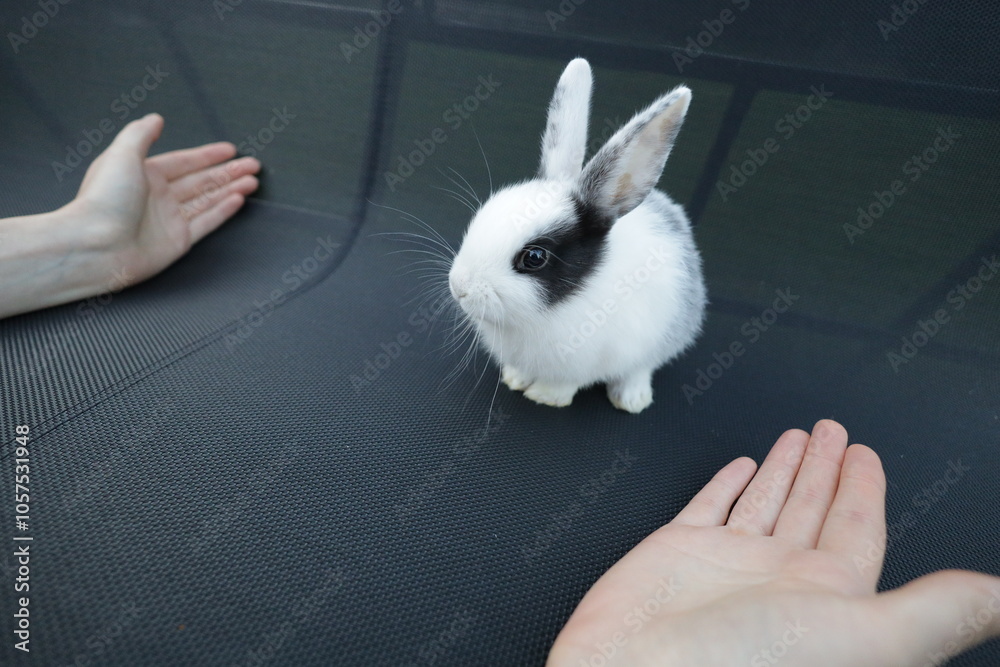
<svg viewBox="0 0 1000 667">
<path fill-rule="evenodd" d="M 574 201 L 576 220 L 527 245 L 545 248 L 549 263 L 537 271 L 520 273 L 538 282 L 545 300 L 554 305 L 583 289 L 590 275 L 604 260 L 604 245 L 613 220 L 580 200 Z M 518 251 L 520 254 L 520 251 Z M 517 261 L 517 257 L 511 259 Z"/>
</svg>

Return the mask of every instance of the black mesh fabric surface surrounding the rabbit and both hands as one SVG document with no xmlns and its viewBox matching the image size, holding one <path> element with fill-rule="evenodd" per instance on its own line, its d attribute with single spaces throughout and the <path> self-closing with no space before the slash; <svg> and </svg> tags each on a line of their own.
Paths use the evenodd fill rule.
<svg viewBox="0 0 1000 667">
<path fill-rule="evenodd" d="M 1000 574 L 1000 279 L 972 280 L 1000 255 L 1000 8 L 907 3 L 884 38 L 892 3 L 571 4 L 388 3 L 365 44 L 372 3 L 69 2 L 16 52 L 0 44 L 3 216 L 72 197 L 93 156 L 61 181 L 52 163 L 103 119 L 155 110 L 156 150 L 246 151 L 294 116 L 258 151 L 258 195 L 176 265 L 0 322 L 0 484 L 28 424 L 37 554 L 30 658 L 9 641 L 15 561 L 0 557 L 0 662 L 542 664 L 593 581 L 719 467 L 824 417 L 885 465 L 881 588 Z M 39 7 L 5 3 L 5 34 Z M 397 252 L 413 246 L 384 235 L 422 233 L 398 208 L 457 243 L 468 210 L 437 188 L 482 196 L 532 174 L 576 55 L 595 69 L 592 150 L 657 93 L 694 91 L 660 185 L 697 222 L 712 303 L 639 416 L 598 388 L 535 405 L 497 389 L 481 354 L 449 377 L 450 320 L 431 325 L 415 256 Z M 157 65 L 169 76 L 119 118 L 114 100 Z M 498 85 L 448 114 L 481 77 Z M 789 134 L 814 87 L 832 96 Z M 446 141 L 415 164 L 435 130 Z M 720 188 L 768 139 L 779 149 Z M 894 180 L 905 192 L 852 231 Z M 792 306 L 772 321 L 779 293 Z M 631 469 L 581 494 L 623 454 Z M 13 524 L 7 500 L 8 541 Z M 993 643 L 949 664 L 998 663 Z"/>
</svg>

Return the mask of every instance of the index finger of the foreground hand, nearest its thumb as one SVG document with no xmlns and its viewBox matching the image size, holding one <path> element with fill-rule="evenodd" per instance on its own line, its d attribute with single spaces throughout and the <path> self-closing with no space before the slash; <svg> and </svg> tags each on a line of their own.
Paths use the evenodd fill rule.
<svg viewBox="0 0 1000 667">
<path fill-rule="evenodd" d="M 864 563 L 858 569 L 868 592 L 875 590 L 885 557 L 885 486 L 878 454 L 864 445 L 851 445 L 817 544 L 818 549 Z"/>
</svg>

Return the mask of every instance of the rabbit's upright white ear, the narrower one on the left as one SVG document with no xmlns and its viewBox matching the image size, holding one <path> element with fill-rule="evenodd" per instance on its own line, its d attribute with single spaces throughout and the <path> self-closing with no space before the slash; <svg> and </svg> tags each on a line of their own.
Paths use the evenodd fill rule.
<svg viewBox="0 0 1000 667">
<path fill-rule="evenodd" d="M 549 103 L 549 120 L 542 138 L 538 175 L 546 179 L 576 179 L 587 150 L 587 120 L 593 77 L 583 58 L 570 61 Z"/>
</svg>

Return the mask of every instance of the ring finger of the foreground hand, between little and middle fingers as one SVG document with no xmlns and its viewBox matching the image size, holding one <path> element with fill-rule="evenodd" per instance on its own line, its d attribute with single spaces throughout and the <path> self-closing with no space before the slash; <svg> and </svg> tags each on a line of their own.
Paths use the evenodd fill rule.
<svg viewBox="0 0 1000 667">
<path fill-rule="evenodd" d="M 785 431 L 733 507 L 726 525 L 747 535 L 770 535 L 799 471 L 809 434 Z"/>
</svg>

